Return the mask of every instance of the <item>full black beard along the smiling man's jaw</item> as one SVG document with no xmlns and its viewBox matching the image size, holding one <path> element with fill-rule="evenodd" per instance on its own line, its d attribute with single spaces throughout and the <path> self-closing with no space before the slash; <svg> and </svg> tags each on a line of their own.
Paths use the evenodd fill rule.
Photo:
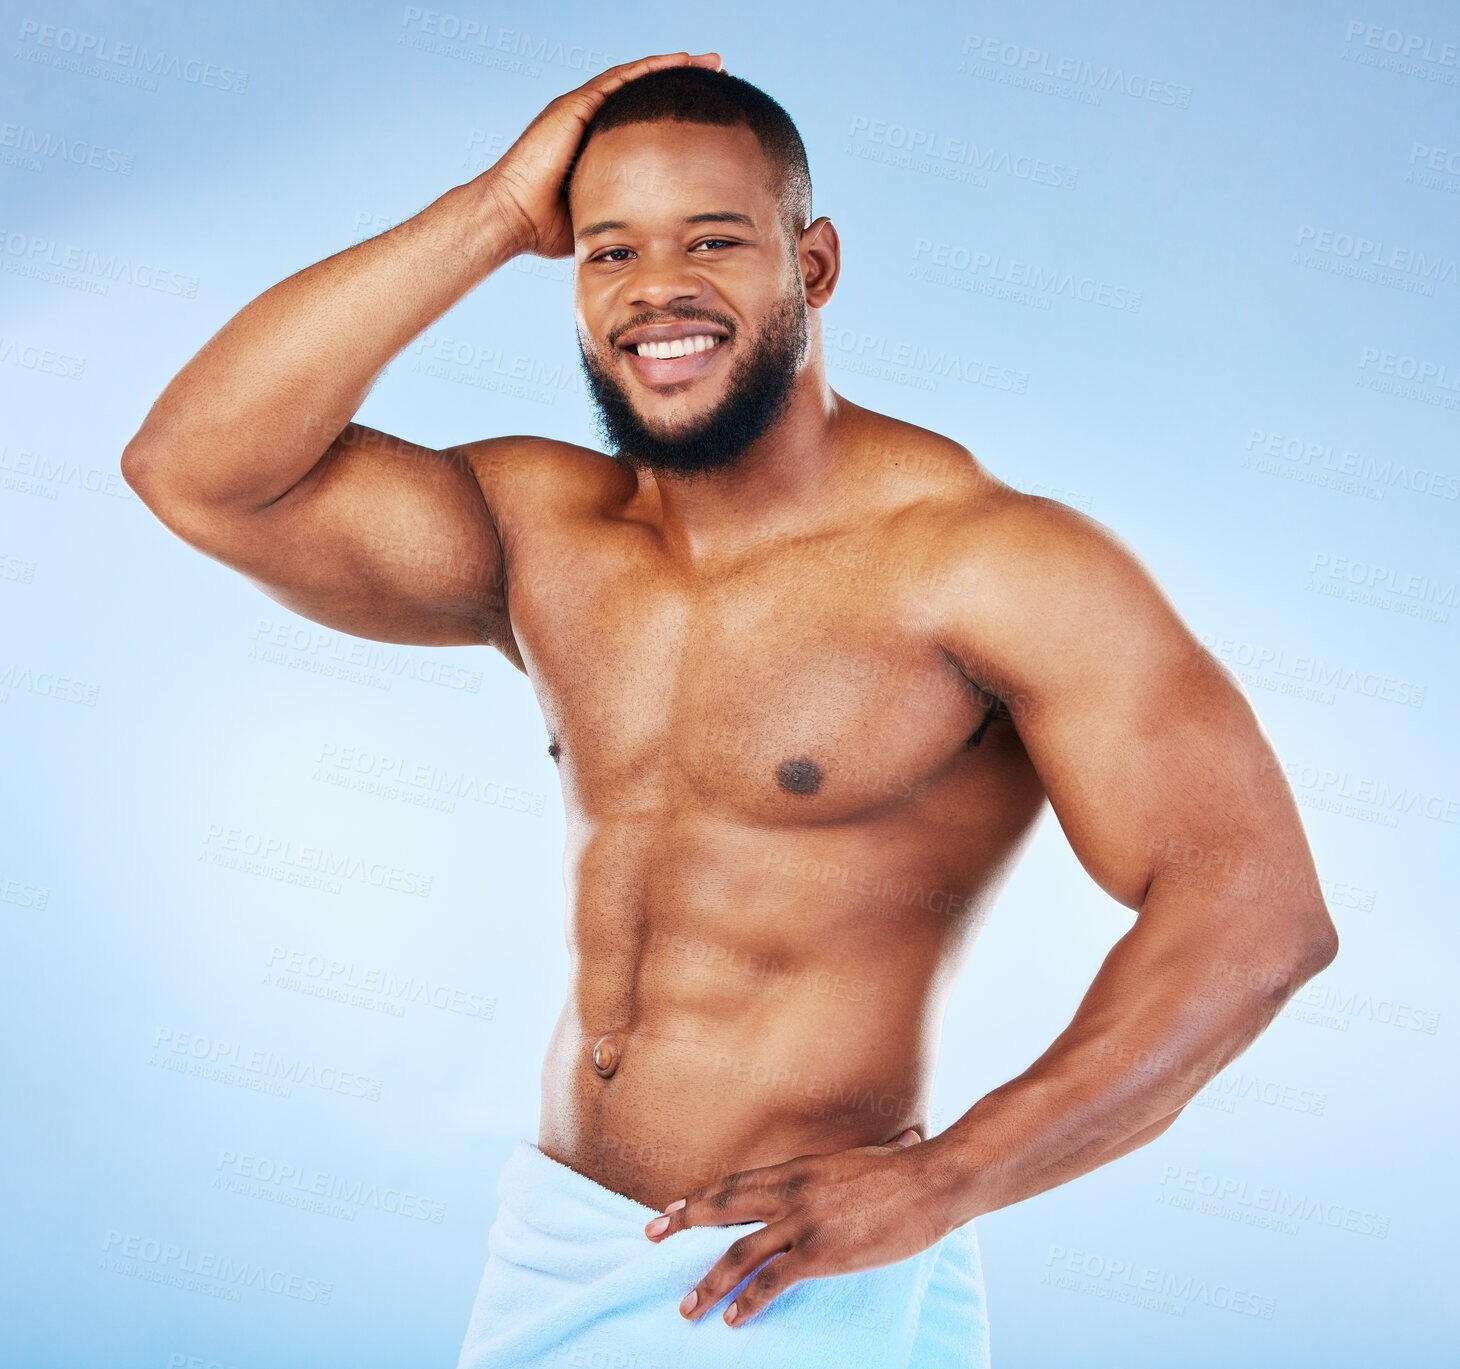
<svg viewBox="0 0 1460 1369">
<path fill-rule="evenodd" d="M 631 466 L 666 476 L 699 476 L 734 466 L 785 412 L 804 352 L 806 301 L 787 295 L 736 360 L 720 404 L 685 432 L 660 438 L 639 422 L 623 387 L 588 358 L 578 337 L 578 359 L 599 410 L 604 445 Z"/>
</svg>

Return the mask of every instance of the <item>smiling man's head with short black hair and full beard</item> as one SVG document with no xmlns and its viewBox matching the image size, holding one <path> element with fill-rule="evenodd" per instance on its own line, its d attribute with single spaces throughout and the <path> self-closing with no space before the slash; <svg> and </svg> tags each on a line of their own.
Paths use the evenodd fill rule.
<svg viewBox="0 0 1460 1369">
<path fill-rule="evenodd" d="M 606 442 L 663 474 L 733 466 L 785 412 L 807 299 L 819 306 L 835 283 L 835 234 L 807 234 L 796 126 L 736 76 L 667 67 L 603 102 L 565 188 L 578 344 Z M 802 267 L 809 238 L 826 239 L 816 283 Z M 669 339 L 688 353 L 639 355 Z"/>
</svg>

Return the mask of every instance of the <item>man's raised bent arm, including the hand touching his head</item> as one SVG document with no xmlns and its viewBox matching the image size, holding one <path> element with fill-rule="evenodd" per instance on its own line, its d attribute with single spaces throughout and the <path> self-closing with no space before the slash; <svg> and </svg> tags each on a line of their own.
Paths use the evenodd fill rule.
<svg viewBox="0 0 1460 1369">
<path fill-rule="evenodd" d="M 502 468 L 526 439 L 434 451 L 350 420 L 390 359 L 499 266 L 572 251 L 562 182 L 588 120 L 626 80 L 691 61 L 718 66 L 677 53 L 603 72 L 473 181 L 266 290 L 152 406 L 123 452 L 127 483 L 181 539 L 307 617 L 515 658 L 476 467 Z"/>
</svg>

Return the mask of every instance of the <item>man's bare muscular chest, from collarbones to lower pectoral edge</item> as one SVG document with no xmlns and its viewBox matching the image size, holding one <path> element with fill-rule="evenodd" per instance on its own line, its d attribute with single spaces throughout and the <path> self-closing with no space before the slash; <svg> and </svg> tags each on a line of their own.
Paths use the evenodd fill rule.
<svg viewBox="0 0 1460 1369">
<path fill-rule="evenodd" d="M 588 816 L 864 819 L 958 768 L 987 711 L 905 594 L 816 558 L 692 582 L 583 562 L 514 587 L 511 613 Z"/>
</svg>

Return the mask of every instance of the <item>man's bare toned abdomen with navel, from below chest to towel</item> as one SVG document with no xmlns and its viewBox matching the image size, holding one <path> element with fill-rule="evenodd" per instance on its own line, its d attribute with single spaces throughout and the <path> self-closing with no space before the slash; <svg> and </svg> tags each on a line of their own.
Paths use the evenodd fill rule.
<svg viewBox="0 0 1460 1369">
<path fill-rule="evenodd" d="M 663 1207 L 730 1172 L 926 1137 L 945 990 L 983 911 L 967 848 L 950 879 L 926 830 L 680 835 L 600 829 L 569 860 L 542 1150 Z"/>
</svg>

